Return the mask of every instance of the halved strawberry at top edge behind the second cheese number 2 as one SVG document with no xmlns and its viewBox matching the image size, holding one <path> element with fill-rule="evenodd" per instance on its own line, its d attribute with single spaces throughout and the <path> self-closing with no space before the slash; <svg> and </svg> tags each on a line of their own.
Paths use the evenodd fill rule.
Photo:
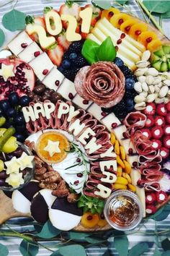
<svg viewBox="0 0 170 256">
<path fill-rule="evenodd" d="M 79 22 L 80 16 L 79 13 L 81 12 L 81 7 L 79 4 L 74 3 L 73 1 L 66 1 L 65 4 L 61 5 L 61 8 L 59 10 L 59 14 L 70 14 L 73 17 L 76 18 L 76 20 Z M 62 21 L 63 27 L 67 28 L 68 24 L 66 21 Z"/>
</svg>

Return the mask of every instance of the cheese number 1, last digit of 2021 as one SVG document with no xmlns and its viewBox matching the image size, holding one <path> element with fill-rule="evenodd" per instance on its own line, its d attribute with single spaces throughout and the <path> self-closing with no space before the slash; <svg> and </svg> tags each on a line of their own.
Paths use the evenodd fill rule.
<svg viewBox="0 0 170 256">
<path fill-rule="evenodd" d="M 80 12 L 80 17 L 82 19 L 81 32 L 89 33 L 92 14 L 93 14 L 93 10 L 91 7 L 88 7 Z"/>
</svg>

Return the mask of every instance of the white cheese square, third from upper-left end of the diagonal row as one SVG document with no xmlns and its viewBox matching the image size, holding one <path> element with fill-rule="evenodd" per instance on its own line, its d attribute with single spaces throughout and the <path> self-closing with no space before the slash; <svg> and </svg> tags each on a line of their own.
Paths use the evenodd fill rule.
<svg viewBox="0 0 170 256">
<path fill-rule="evenodd" d="M 53 62 L 45 53 L 37 56 L 35 59 L 30 61 L 29 64 L 40 81 L 42 81 L 45 76 L 50 72 L 50 70 L 54 67 Z"/>
</svg>

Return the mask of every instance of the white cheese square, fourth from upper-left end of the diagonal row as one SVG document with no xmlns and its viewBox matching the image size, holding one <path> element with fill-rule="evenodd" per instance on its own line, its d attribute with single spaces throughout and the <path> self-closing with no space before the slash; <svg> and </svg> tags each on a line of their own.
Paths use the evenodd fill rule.
<svg viewBox="0 0 170 256">
<path fill-rule="evenodd" d="M 53 67 L 50 73 L 46 75 L 45 79 L 42 80 L 42 83 L 47 88 L 58 90 L 63 80 L 64 80 L 64 75 L 56 67 Z"/>
</svg>

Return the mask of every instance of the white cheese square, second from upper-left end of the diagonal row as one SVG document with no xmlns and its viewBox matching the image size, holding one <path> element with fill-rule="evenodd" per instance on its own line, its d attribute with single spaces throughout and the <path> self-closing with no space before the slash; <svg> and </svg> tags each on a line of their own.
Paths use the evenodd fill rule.
<svg viewBox="0 0 170 256">
<path fill-rule="evenodd" d="M 19 59 L 22 59 L 22 61 L 25 61 L 28 63 L 32 61 L 32 59 L 35 59 L 36 57 L 35 53 L 37 52 L 42 54 L 41 48 L 37 45 L 37 43 L 33 42 L 30 44 L 30 46 L 27 46 L 26 48 L 24 48 L 24 50 L 20 54 L 18 54 L 18 56 L 19 56 Z"/>
</svg>

